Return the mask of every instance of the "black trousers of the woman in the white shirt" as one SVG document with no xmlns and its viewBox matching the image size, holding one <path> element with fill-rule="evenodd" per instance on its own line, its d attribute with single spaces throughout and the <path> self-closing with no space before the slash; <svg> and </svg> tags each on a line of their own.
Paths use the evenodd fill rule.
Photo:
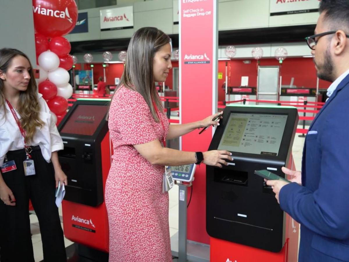
<svg viewBox="0 0 349 262">
<path fill-rule="evenodd" d="M 8 161 L 14 160 L 16 170 L 2 174 L 16 199 L 15 206 L 0 201 L 0 261 L 34 262 L 30 234 L 29 199 L 39 220 L 44 261 L 67 261 L 63 231 L 55 204 L 55 180 L 52 163 L 47 163 L 39 146 L 31 153 L 35 175 L 24 176 L 24 150 L 9 151 Z"/>
</svg>

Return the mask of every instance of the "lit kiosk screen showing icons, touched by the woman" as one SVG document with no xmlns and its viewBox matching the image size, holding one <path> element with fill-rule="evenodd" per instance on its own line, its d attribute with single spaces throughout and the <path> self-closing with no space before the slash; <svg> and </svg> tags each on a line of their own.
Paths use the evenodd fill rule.
<svg viewBox="0 0 349 262">
<path fill-rule="evenodd" d="M 218 150 L 277 156 L 286 121 L 287 115 L 231 113 Z"/>
</svg>

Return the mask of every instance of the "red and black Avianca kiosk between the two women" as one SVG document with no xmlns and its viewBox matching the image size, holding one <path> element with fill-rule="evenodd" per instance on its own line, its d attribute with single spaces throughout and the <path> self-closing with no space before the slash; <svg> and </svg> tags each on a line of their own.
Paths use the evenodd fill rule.
<svg viewBox="0 0 349 262">
<path fill-rule="evenodd" d="M 77 100 L 58 126 L 64 150 L 58 152 L 68 177 L 62 203 L 64 234 L 84 246 L 109 252 L 104 203 L 111 145 L 105 116 L 109 100 Z"/>
</svg>

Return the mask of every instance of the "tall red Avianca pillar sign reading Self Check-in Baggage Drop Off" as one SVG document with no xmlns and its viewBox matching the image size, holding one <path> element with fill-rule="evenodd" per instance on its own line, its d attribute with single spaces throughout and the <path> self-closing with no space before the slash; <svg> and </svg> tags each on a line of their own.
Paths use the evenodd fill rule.
<svg viewBox="0 0 349 262">
<path fill-rule="evenodd" d="M 179 0 L 180 123 L 199 121 L 217 112 L 217 0 Z M 207 151 L 214 130 L 193 131 L 181 138 L 183 151 Z M 188 199 L 190 198 L 188 190 Z M 187 210 L 187 238 L 209 244 L 206 232 L 206 166 L 196 167 Z"/>
</svg>

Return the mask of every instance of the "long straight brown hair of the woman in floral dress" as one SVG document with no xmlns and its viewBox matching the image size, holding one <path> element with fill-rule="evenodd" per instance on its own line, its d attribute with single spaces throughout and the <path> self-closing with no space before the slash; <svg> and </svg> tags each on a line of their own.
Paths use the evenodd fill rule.
<svg viewBox="0 0 349 262">
<path fill-rule="evenodd" d="M 159 111 L 162 112 L 163 107 L 155 88 L 153 59 L 155 53 L 170 41 L 168 35 L 155 27 L 138 29 L 128 44 L 124 72 L 117 87 L 118 90 L 119 87 L 125 86 L 140 93 L 156 122 L 159 122 L 159 118 L 152 101 Z"/>
</svg>

